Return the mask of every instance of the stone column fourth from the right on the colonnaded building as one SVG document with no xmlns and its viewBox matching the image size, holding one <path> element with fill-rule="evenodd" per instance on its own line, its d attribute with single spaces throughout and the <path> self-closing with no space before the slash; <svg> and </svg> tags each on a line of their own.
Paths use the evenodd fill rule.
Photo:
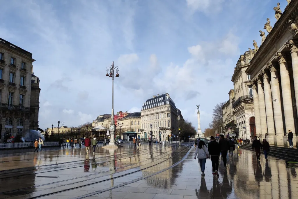
<svg viewBox="0 0 298 199">
<path fill-rule="evenodd" d="M 275 128 L 274 128 L 274 118 L 273 118 L 273 109 L 272 109 L 271 87 L 270 87 L 269 78 L 266 72 L 263 73 L 263 84 L 264 84 L 266 119 L 267 119 L 267 128 L 268 128 L 268 140 L 269 140 L 269 144 L 272 144 L 274 143 Z"/>
</svg>

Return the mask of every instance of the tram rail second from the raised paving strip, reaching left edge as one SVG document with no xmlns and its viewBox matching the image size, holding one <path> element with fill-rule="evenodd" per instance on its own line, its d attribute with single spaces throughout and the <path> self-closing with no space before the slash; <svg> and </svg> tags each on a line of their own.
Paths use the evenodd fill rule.
<svg viewBox="0 0 298 199">
<path fill-rule="evenodd" d="M 167 149 L 168 149 L 168 148 L 172 148 L 172 146 L 167 146 Z M 162 149 L 164 150 L 165 148 L 162 148 Z M 173 151 L 173 150 L 170 150 L 170 151 L 163 151 L 162 153 L 159 152 L 158 155 L 156 155 L 156 156 L 154 156 L 154 157 L 162 156 L 162 158 L 163 158 L 163 157 L 165 157 L 165 156 L 168 156 L 169 154 L 167 154 L 167 153 L 168 153 L 168 152 L 171 152 L 171 151 Z M 143 155 L 144 155 L 144 154 L 143 154 Z M 146 159 L 146 160 L 143 160 L 143 161 L 140 161 L 140 162 L 136 162 L 136 163 L 133 163 L 133 164 L 125 165 L 125 166 L 118 167 L 118 168 L 116 168 L 116 169 L 112 169 L 112 170 L 108 170 L 108 171 L 102 171 L 102 172 L 92 173 L 92 174 L 90 174 L 90 175 L 85 175 L 84 177 L 89 177 L 89 176 L 91 176 L 91 175 L 94 176 L 94 175 L 97 175 L 97 174 L 103 174 L 103 173 L 106 173 L 106 172 L 111 172 L 111 171 L 113 171 L 113 170 L 117 171 L 117 170 L 119 170 L 119 169 L 123 169 L 123 168 L 126 168 L 126 167 L 131 167 L 131 166 L 136 165 L 136 166 L 134 166 L 134 167 L 131 167 L 131 168 L 128 168 L 128 169 L 125 169 L 125 170 L 121 170 L 121 171 L 119 171 L 119 172 L 114 172 L 113 175 L 115 175 L 115 174 L 117 174 L 117 173 L 125 172 L 125 171 L 127 171 L 127 170 L 129 170 L 129 169 L 135 169 L 136 167 L 144 166 L 144 165 L 146 165 L 146 164 L 149 164 L 149 163 L 158 161 L 158 160 L 154 160 L 154 161 L 151 161 L 151 162 L 146 163 L 146 164 L 141 164 L 141 163 L 144 163 L 144 162 L 146 162 L 146 161 L 150 161 L 150 160 L 152 160 L 152 159 L 151 159 L 151 158 L 150 158 L 150 159 Z M 99 164 L 99 163 L 98 163 L 98 164 Z M 111 175 L 111 173 L 109 173 L 108 175 Z M 97 179 L 97 178 L 105 178 L 105 177 L 108 176 L 108 175 L 98 176 L 98 177 L 96 177 L 96 178 L 92 178 L 92 180 Z M 116 178 L 116 177 L 115 177 L 115 178 Z M 5 194 L 5 193 L 20 192 L 20 191 L 23 191 L 23 190 L 26 190 L 26 189 L 32 189 L 32 188 L 42 187 L 42 186 L 51 185 L 51 184 L 57 184 L 57 183 L 59 184 L 59 183 L 61 183 L 61 182 L 66 182 L 66 181 L 74 181 L 74 180 L 76 180 L 76 179 L 78 179 L 78 177 L 76 177 L 76 178 L 69 178 L 69 179 L 67 179 L 67 180 L 55 181 L 55 182 L 46 183 L 46 184 L 41 184 L 41 185 L 38 185 L 38 186 L 31 186 L 31 187 L 25 187 L 25 188 L 21 188 L 21 189 L 10 190 L 10 191 L 6 191 L 6 192 L 0 192 L 0 195 L 1 195 L 1 194 Z M 63 184 L 63 185 L 60 185 L 60 184 L 59 184 L 59 186 L 54 186 L 54 187 L 50 187 L 50 188 L 46 188 L 46 189 L 55 189 L 55 188 L 60 187 L 60 186 L 73 185 L 73 184 L 76 184 L 76 183 L 86 182 L 86 181 L 88 181 L 88 180 L 91 180 L 91 179 L 84 179 L 84 180 L 81 180 L 81 181 L 75 181 L 75 182 L 67 183 L 67 184 Z M 104 179 L 104 181 L 106 181 L 106 180 L 108 180 L 108 179 Z M 88 186 L 88 185 L 86 185 L 86 186 Z M 46 190 L 46 189 L 44 189 L 44 190 Z"/>
</svg>

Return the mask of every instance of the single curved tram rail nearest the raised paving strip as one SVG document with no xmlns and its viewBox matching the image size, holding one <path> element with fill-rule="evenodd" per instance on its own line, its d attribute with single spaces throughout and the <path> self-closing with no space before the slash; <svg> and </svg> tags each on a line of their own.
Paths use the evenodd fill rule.
<svg viewBox="0 0 298 199">
<path fill-rule="evenodd" d="M 78 188 L 81 188 L 81 187 L 85 187 L 85 186 L 90 186 L 90 185 L 93 185 L 93 184 L 97 184 L 97 183 L 102 183 L 102 182 L 106 182 L 106 181 L 110 181 L 110 180 L 114 180 L 114 179 L 117 179 L 117 178 L 121 178 L 121 177 L 124 177 L 124 176 L 128 176 L 128 175 L 131 175 L 131 174 L 134 174 L 135 172 L 139 172 L 139 171 L 143 171 L 145 169 L 149 169 L 149 168 L 152 168 L 153 166 L 156 166 L 158 164 L 161 164 L 163 163 L 164 161 L 168 161 L 170 158 L 173 158 L 174 156 L 178 155 L 179 153 L 181 153 L 182 151 L 188 149 L 187 147 L 190 146 L 190 145 L 187 145 L 187 146 L 184 146 L 181 150 L 179 150 L 177 153 L 175 153 L 174 155 L 170 156 L 169 158 L 167 158 L 166 160 L 163 160 L 161 162 L 158 162 L 156 164 L 153 164 L 151 166 L 147 166 L 145 168 L 142 168 L 142 169 L 139 169 L 137 171 L 132 171 L 132 172 L 129 172 L 129 173 L 125 173 L 123 175 L 119 175 L 119 176 L 116 176 L 116 177 L 111 177 L 111 178 L 108 178 L 108 179 L 104 179 L 104 180 L 101 180 L 101 181 L 97 181 L 97 182 L 92 182 L 92 183 L 88 183 L 88 184 L 85 184 L 85 185 L 79 185 L 79 186 L 76 186 L 76 187 L 73 187 L 73 188 L 69 188 L 69 189 L 63 189 L 63 190 L 59 190 L 59 191 L 55 191 L 55 192 L 51 192 L 51 193 L 46 193 L 46 194 L 43 194 L 43 195 L 38 195 L 38 196 L 34 196 L 34 197 L 31 197 L 31 198 L 27 198 L 27 199 L 35 199 L 35 198 L 41 198 L 41 197 L 45 197 L 45 196 L 49 196 L 49 195 L 54 195 L 54 194 L 57 194 L 57 193 L 61 193 L 61 192 L 66 192 L 66 191 L 70 191 L 70 190 L 73 190 L 73 189 L 78 189 Z M 158 159 L 160 160 L 160 159 Z M 156 161 L 158 161 L 156 160 Z M 154 161 L 152 161 L 154 162 Z M 151 163 L 152 163 L 151 162 Z M 173 165 L 172 165 L 173 166 Z M 110 175 L 110 174 L 109 174 Z M 63 185 L 64 186 L 64 185 Z M 46 189 L 44 189 L 46 190 Z M 32 193 L 34 194 L 34 192 Z"/>
</svg>

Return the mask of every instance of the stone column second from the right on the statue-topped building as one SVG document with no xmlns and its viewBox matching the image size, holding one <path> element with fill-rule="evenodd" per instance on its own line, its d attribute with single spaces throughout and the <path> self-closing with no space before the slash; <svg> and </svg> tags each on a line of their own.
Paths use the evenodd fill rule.
<svg viewBox="0 0 298 199">
<path fill-rule="evenodd" d="M 275 58 L 278 60 L 278 63 L 280 65 L 280 81 L 283 95 L 283 110 L 285 114 L 286 132 L 288 132 L 288 130 L 291 130 L 295 135 L 293 104 L 288 64 L 285 60 L 285 56 L 282 53 L 276 53 Z M 294 144 L 294 146 L 296 146 L 296 143 Z"/>
</svg>

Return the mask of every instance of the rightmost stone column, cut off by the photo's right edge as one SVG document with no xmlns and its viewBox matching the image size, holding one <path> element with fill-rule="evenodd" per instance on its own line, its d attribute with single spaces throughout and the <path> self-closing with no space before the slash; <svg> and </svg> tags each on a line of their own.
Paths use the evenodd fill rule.
<svg viewBox="0 0 298 199">
<path fill-rule="evenodd" d="M 294 90 L 295 90 L 295 96 L 296 96 L 296 107 L 298 108 L 298 55 L 297 55 L 297 53 L 298 53 L 298 42 L 293 41 L 293 40 L 289 40 L 286 43 L 286 46 L 291 51 L 292 70 L 293 70 L 293 77 L 294 77 Z M 293 132 L 293 134 L 294 134 L 294 132 Z M 293 142 L 296 141 L 296 146 L 298 146 L 298 136 L 295 136 L 295 137 L 296 137 L 296 140 L 294 140 L 294 138 L 293 138 Z"/>
</svg>

